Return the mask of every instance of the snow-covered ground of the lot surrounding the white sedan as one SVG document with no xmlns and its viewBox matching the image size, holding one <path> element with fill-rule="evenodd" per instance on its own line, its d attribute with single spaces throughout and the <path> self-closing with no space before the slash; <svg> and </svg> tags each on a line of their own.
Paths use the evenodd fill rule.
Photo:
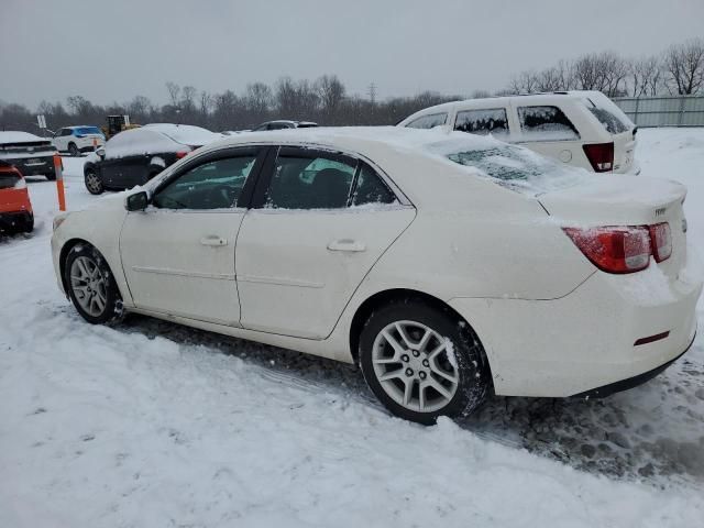
<svg viewBox="0 0 704 528">
<path fill-rule="evenodd" d="M 644 175 L 688 185 L 704 251 L 704 129 L 639 140 Z M 68 208 L 99 199 L 65 164 Z M 55 285 L 55 185 L 30 190 L 37 229 L 0 241 L 0 527 L 702 526 L 702 334 L 630 392 L 492 398 L 422 428 L 346 365 L 142 317 L 85 323 Z"/>
</svg>

